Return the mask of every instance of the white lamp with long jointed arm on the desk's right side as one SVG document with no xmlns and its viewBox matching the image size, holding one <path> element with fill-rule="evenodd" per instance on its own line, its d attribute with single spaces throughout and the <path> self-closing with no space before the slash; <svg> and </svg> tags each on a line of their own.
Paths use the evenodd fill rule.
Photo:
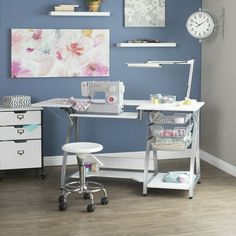
<svg viewBox="0 0 236 236">
<path fill-rule="evenodd" d="M 188 61 L 147 61 L 145 63 L 126 63 L 126 65 L 128 67 L 140 67 L 140 68 L 162 68 L 163 65 L 190 65 L 189 75 L 188 75 L 188 87 L 186 93 L 186 99 L 190 99 L 194 62 L 195 59 L 191 59 Z"/>
</svg>

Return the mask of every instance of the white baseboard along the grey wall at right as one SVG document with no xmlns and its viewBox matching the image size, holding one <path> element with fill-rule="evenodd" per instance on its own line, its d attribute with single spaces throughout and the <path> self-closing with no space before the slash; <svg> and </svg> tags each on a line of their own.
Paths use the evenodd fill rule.
<svg viewBox="0 0 236 236">
<path fill-rule="evenodd" d="M 207 163 L 217 167 L 218 169 L 236 177 L 236 166 L 233 166 L 207 152 L 200 151 L 200 157 L 202 160 L 206 161 Z"/>
</svg>

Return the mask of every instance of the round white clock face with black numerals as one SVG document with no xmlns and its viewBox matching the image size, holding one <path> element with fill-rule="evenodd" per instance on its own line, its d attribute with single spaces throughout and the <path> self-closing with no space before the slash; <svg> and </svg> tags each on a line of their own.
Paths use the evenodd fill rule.
<svg viewBox="0 0 236 236">
<path fill-rule="evenodd" d="M 186 28 L 194 38 L 205 39 L 213 33 L 215 23 L 207 12 L 199 11 L 188 18 Z"/>
</svg>

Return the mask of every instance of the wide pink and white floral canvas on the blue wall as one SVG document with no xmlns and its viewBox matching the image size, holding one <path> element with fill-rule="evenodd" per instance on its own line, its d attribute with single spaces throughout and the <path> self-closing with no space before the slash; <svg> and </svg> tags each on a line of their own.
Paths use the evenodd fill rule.
<svg viewBox="0 0 236 236">
<path fill-rule="evenodd" d="M 109 30 L 12 29 L 11 77 L 109 76 Z"/>
</svg>

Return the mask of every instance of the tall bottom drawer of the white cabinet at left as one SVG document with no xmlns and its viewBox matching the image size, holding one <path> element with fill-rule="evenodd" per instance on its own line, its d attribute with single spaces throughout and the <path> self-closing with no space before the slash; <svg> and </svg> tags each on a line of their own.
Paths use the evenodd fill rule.
<svg viewBox="0 0 236 236">
<path fill-rule="evenodd" d="M 41 140 L 0 142 L 0 169 L 41 167 Z"/>
</svg>

